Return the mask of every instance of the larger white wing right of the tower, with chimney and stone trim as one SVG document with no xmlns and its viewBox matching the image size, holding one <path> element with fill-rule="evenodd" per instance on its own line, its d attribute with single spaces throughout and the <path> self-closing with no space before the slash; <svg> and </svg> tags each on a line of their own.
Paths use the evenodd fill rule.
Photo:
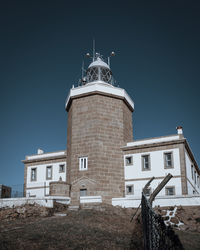
<svg viewBox="0 0 200 250">
<path fill-rule="evenodd" d="M 173 178 L 159 195 L 200 194 L 199 168 L 182 128 L 177 130 L 177 135 L 138 140 L 122 148 L 126 197 L 141 196 L 142 188 L 154 176 L 150 194 L 168 173 Z"/>
</svg>

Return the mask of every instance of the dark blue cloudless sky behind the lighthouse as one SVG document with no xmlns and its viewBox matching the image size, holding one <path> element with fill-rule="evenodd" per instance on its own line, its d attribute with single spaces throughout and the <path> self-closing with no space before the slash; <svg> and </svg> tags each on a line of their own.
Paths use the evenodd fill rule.
<svg viewBox="0 0 200 250">
<path fill-rule="evenodd" d="M 135 102 L 134 138 L 182 125 L 200 162 L 199 1 L 1 1 L 0 184 L 22 184 L 25 155 L 66 148 L 69 89 L 96 50 Z M 86 60 L 87 62 L 87 60 Z"/>
</svg>

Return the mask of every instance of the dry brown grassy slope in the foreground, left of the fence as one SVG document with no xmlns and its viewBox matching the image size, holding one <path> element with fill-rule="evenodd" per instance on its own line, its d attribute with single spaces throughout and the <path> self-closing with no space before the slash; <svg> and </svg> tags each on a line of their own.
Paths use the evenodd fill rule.
<svg viewBox="0 0 200 250">
<path fill-rule="evenodd" d="M 142 249 L 141 230 L 134 233 L 130 222 L 133 210 L 65 213 L 1 221 L 0 249 Z"/>
</svg>

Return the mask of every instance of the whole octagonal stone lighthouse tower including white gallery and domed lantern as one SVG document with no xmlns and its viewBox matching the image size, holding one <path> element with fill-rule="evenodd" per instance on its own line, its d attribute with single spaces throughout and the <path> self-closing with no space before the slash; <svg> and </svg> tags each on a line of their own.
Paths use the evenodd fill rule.
<svg viewBox="0 0 200 250">
<path fill-rule="evenodd" d="M 111 203 L 124 196 L 121 147 L 133 140 L 134 104 L 124 89 L 113 86 L 111 69 L 100 54 L 82 82 L 70 90 L 66 102 L 71 204 L 79 204 L 80 197 Z"/>
</svg>

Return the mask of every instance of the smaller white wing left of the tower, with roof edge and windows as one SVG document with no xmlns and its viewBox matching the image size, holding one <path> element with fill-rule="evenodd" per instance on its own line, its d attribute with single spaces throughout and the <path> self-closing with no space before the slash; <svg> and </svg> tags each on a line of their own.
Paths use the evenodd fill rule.
<svg viewBox="0 0 200 250">
<path fill-rule="evenodd" d="M 59 180 L 66 181 L 66 151 L 26 156 L 24 191 L 26 197 L 49 196 L 49 183 Z"/>
</svg>

